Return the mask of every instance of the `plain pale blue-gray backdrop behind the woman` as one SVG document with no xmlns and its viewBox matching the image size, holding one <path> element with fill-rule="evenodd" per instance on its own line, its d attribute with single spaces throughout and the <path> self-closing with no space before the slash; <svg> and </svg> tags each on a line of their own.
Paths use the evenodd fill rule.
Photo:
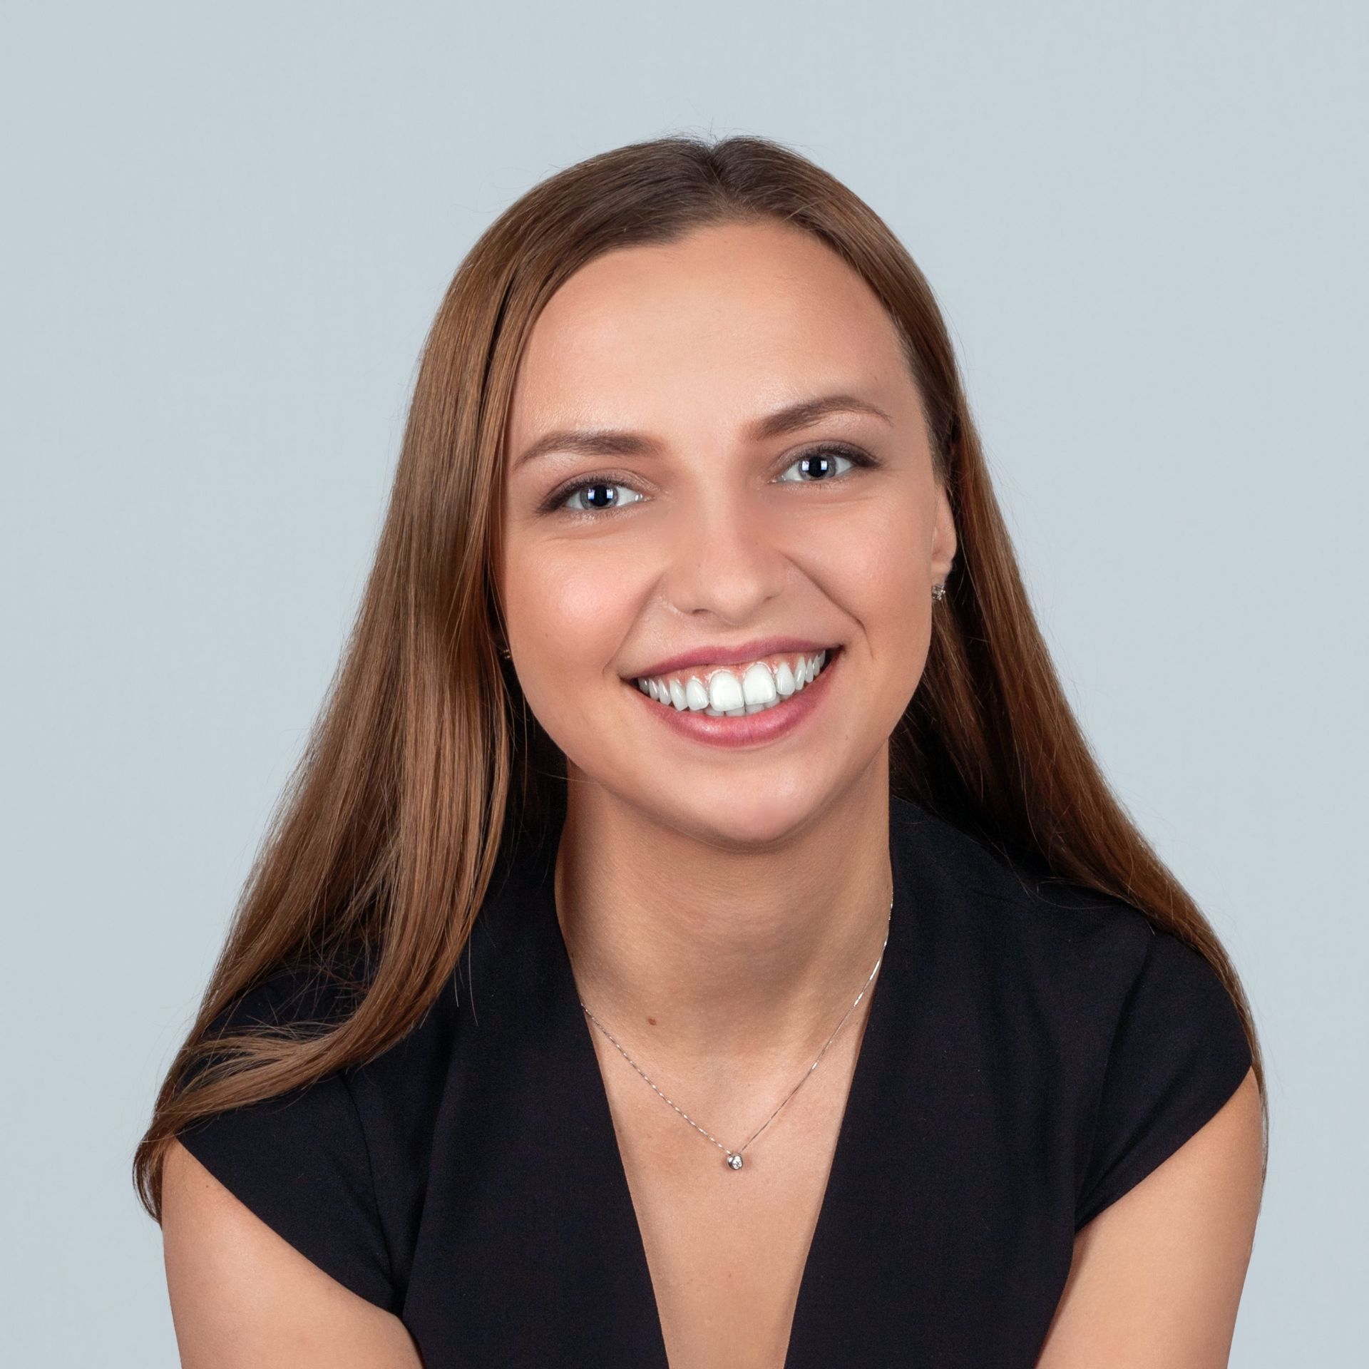
<svg viewBox="0 0 1369 1369">
<path fill-rule="evenodd" d="M 1224 938 L 1272 1155 L 1232 1364 L 1362 1364 L 1369 10 L 4 4 L 15 1365 L 177 1364 L 130 1179 L 481 230 L 760 133 L 945 308 L 1099 758 Z"/>
</svg>

